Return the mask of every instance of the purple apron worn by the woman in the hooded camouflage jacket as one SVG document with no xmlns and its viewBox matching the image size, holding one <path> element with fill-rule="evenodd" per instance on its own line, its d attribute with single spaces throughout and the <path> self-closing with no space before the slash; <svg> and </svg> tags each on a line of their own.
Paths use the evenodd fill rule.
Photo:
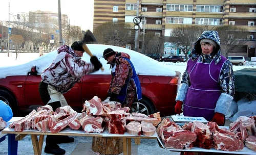
<svg viewBox="0 0 256 155">
<path fill-rule="evenodd" d="M 199 58 L 198 58 L 199 59 Z M 220 62 L 215 65 L 189 60 L 187 72 L 190 83 L 184 100 L 184 116 L 204 117 L 211 121 L 215 115 L 216 102 L 221 95 L 219 76 L 224 62 L 227 60 L 221 56 Z"/>
</svg>

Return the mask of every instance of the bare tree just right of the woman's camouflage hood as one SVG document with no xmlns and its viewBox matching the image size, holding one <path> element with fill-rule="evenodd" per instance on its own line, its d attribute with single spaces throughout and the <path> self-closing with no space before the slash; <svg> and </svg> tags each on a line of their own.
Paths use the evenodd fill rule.
<svg viewBox="0 0 256 155">
<path fill-rule="evenodd" d="M 230 52 L 240 51 L 248 35 L 246 28 L 233 25 L 224 25 L 215 30 L 219 33 L 221 39 L 221 55 L 224 57 L 227 57 L 227 54 Z"/>
</svg>

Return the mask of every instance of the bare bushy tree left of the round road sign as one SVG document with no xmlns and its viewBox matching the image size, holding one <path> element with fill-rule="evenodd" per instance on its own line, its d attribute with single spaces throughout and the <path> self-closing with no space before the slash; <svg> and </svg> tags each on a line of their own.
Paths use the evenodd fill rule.
<svg viewBox="0 0 256 155">
<path fill-rule="evenodd" d="M 134 41 L 129 28 L 131 25 L 124 22 L 105 22 L 95 29 L 94 35 L 100 44 L 122 46 Z"/>
</svg>

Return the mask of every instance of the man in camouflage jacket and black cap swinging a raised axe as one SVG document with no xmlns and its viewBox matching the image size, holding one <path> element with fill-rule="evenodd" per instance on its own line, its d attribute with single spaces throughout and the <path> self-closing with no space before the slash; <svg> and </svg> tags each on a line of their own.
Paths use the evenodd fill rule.
<svg viewBox="0 0 256 155">
<path fill-rule="evenodd" d="M 67 106 L 63 96 L 73 88 L 80 78 L 86 74 L 102 68 L 102 64 L 96 56 L 91 56 L 91 63 L 81 60 L 84 51 L 90 52 L 86 43 L 96 41 L 90 30 L 86 32 L 81 41 L 75 41 L 71 46 L 62 45 L 57 50 L 57 57 L 52 64 L 41 73 L 39 94 L 44 105 L 52 106 L 55 111 L 59 107 Z M 84 49 L 83 47 L 87 48 Z M 91 52 L 90 52 L 91 54 Z M 68 136 L 48 135 L 46 137 L 45 152 L 51 154 L 65 154 L 59 143 L 73 142 L 74 138 Z"/>
</svg>

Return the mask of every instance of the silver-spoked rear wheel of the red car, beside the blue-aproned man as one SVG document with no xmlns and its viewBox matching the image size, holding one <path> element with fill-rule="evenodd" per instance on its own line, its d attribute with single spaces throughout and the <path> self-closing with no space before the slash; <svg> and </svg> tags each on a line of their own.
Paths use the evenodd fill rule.
<svg viewBox="0 0 256 155">
<path fill-rule="evenodd" d="M 154 114 L 156 112 L 155 106 L 147 99 L 142 98 L 133 103 L 131 107 L 132 113 L 142 113 L 145 115 Z"/>
</svg>

